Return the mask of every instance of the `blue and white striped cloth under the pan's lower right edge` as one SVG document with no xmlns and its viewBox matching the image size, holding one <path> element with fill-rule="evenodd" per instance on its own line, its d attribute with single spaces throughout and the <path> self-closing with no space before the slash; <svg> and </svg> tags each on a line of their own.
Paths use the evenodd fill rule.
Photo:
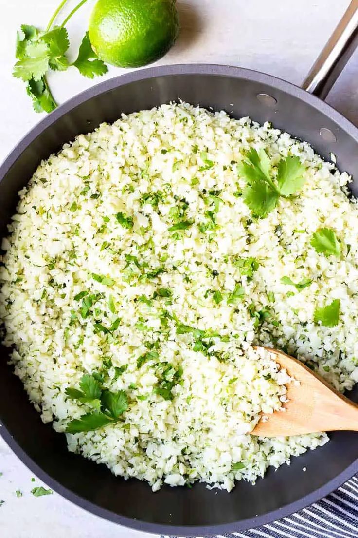
<svg viewBox="0 0 358 538">
<path fill-rule="evenodd" d="M 325 499 L 287 518 L 242 533 L 235 532 L 218 536 L 220 538 L 235 538 L 236 536 L 240 538 L 357 538 L 358 475 Z M 210 538 L 215 537 L 210 536 Z"/>
</svg>

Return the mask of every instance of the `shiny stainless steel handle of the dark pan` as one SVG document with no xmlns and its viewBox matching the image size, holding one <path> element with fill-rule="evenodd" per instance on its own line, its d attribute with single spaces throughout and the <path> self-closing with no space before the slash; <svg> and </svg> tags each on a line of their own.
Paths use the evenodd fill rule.
<svg viewBox="0 0 358 538">
<path fill-rule="evenodd" d="M 358 0 L 350 2 L 302 83 L 302 88 L 324 99 L 358 45 Z"/>
</svg>

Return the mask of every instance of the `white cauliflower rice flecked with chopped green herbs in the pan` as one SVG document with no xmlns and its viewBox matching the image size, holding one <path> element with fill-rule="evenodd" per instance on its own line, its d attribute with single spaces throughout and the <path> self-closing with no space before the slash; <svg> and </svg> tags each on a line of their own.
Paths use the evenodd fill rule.
<svg viewBox="0 0 358 538">
<path fill-rule="evenodd" d="M 244 152 L 296 155 L 305 183 L 254 218 Z M 350 178 L 309 144 L 189 104 L 122 115 L 65 144 L 20 191 L 3 239 L 0 315 L 14 371 L 56 431 L 93 412 L 69 398 L 84 374 L 124 391 L 120 421 L 67 433 L 69 450 L 116 475 L 230 491 L 315 449 L 324 433 L 251 436 L 291 380 L 260 344 L 340 391 L 358 381 L 358 213 Z M 341 256 L 310 243 L 326 226 Z M 302 289 L 282 283 L 308 281 Z M 315 310 L 340 301 L 338 324 Z"/>
</svg>

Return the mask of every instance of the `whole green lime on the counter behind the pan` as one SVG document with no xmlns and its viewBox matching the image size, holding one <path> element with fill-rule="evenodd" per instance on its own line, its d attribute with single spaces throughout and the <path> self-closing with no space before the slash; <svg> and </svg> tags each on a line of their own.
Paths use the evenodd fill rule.
<svg viewBox="0 0 358 538">
<path fill-rule="evenodd" d="M 117 67 L 158 60 L 178 33 L 175 0 L 98 0 L 89 25 L 94 52 Z"/>
</svg>

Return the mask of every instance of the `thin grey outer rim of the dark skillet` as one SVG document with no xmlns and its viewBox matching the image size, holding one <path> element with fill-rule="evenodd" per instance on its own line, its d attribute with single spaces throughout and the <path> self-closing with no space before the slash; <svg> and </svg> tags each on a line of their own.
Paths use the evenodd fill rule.
<svg viewBox="0 0 358 538">
<path fill-rule="evenodd" d="M 171 76 L 171 75 L 212 75 L 212 76 L 227 76 L 232 78 L 240 78 L 249 81 L 260 82 L 266 84 L 266 86 L 272 87 L 273 89 L 279 89 L 288 93 L 300 101 L 308 103 L 313 108 L 322 112 L 327 118 L 331 119 L 333 122 L 337 123 L 338 126 L 346 131 L 358 144 L 358 129 L 350 122 L 347 118 L 342 116 L 340 112 L 335 110 L 333 107 L 320 100 L 315 95 L 308 93 L 308 91 L 295 86 L 290 82 L 279 79 L 278 77 L 261 73 L 252 69 L 245 69 L 242 67 L 218 65 L 211 63 L 179 63 L 174 65 L 165 65 L 158 67 L 150 67 L 146 69 L 138 69 L 130 73 L 122 74 L 112 79 L 105 80 L 88 88 L 75 97 L 72 97 L 70 100 L 62 104 L 59 108 L 54 110 L 51 114 L 43 118 L 39 123 L 37 123 L 25 136 L 20 139 L 18 144 L 13 148 L 12 151 L 3 161 L 3 164 L 0 166 L 0 182 L 3 180 L 4 176 L 8 173 L 13 164 L 20 157 L 21 153 L 30 146 L 33 141 L 45 131 L 50 125 L 56 123 L 56 121 L 61 118 L 64 114 L 70 110 L 76 108 L 78 105 L 89 101 L 92 98 L 105 94 L 108 91 L 111 91 L 117 87 L 125 86 L 131 82 L 136 82 L 143 79 L 151 79 L 152 77 L 157 76 Z M 0 419 L 0 435 L 3 437 L 4 441 L 10 449 L 16 454 L 16 456 L 23 462 L 28 469 L 30 469 L 36 476 L 38 476 L 43 482 L 49 485 L 54 491 L 59 493 L 65 499 L 73 502 L 75 505 L 80 508 L 85 509 L 88 512 L 91 512 L 94 515 L 98 515 L 101 518 L 104 518 L 108 521 L 118 523 L 129 528 L 136 530 L 142 530 L 143 532 L 148 533 L 161 533 L 168 535 L 179 535 L 179 536 L 199 536 L 203 534 L 221 534 L 227 532 L 235 532 L 241 530 L 247 530 L 261 525 L 266 525 L 277 519 L 286 517 L 294 512 L 301 510 L 313 502 L 316 502 L 323 497 L 326 497 L 327 494 L 331 493 L 333 490 L 337 489 L 340 485 L 346 482 L 351 478 L 355 473 L 358 472 L 358 458 L 350 464 L 344 471 L 339 473 L 339 475 L 332 478 L 324 486 L 319 489 L 311 492 L 308 495 L 305 495 L 297 501 L 291 502 L 288 505 L 285 505 L 281 508 L 267 512 L 266 514 L 257 516 L 252 519 L 244 519 L 232 523 L 223 523 L 221 525 L 207 525 L 207 526 L 178 526 L 178 525 L 164 525 L 162 523 L 149 523 L 147 521 L 140 521 L 138 519 L 131 519 L 126 516 L 115 514 L 107 510 L 106 508 L 101 508 L 98 505 L 94 504 L 91 501 L 88 501 L 72 492 L 71 490 L 64 487 L 62 484 L 57 482 L 48 475 L 47 472 L 43 471 L 38 464 L 36 464 L 33 459 L 26 454 L 26 452 L 20 447 L 20 444 L 13 438 L 10 431 L 5 427 Z"/>
</svg>

